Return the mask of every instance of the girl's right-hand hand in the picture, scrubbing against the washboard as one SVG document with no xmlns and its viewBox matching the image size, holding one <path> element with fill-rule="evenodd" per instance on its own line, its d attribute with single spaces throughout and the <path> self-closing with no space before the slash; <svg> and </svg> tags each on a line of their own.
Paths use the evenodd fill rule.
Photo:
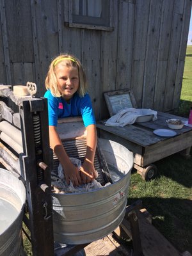
<svg viewBox="0 0 192 256">
<path fill-rule="evenodd" d="M 83 183 L 91 182 L 98 177 L 97 171 L 95 171 L 94 165 L 91 161 L 85 159 L 81 166 L 81 180 Z"/>
</svg>

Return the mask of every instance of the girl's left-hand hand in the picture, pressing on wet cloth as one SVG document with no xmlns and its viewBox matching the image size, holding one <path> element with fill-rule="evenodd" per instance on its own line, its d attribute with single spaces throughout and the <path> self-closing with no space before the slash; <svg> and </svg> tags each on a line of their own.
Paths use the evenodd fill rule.
<svg viewBox="0 0 192 256">
<path fill-rule="evenodd" d="M 70 162 L 67 168 L 65 167 L 63 170 L 67 184 L 70 184 L 70 181 L 74 186 L 78 186 L 82 183 L 79 170 L 74 164 Z"/>
</svg>

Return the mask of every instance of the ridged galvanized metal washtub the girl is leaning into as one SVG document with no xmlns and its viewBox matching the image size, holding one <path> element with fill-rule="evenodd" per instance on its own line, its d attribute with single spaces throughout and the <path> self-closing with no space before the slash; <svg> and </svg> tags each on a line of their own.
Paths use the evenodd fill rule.
<svg viewBox="0 0 192 256">
<path fill-rule="evenodd" d="M 114 141 L 99 139 L 110 168 L 122 177 L 113 184 L 86 193 L 52 194 L 54 241 L 65 244 L 91 243 L 113 232 L 122 222 L 133 156 Z"/>
</svg>

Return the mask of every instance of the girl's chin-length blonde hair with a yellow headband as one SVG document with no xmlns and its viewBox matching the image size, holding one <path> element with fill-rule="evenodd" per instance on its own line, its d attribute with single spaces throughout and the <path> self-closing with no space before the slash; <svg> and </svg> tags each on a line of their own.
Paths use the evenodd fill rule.
<svg viewBox="0 0 192 256">
<path fill-rule="evenodd" d="M 75 67 L 79 73 L 79 88 L 77 93 L 80 97 L 83 97 L 87 92 L 86 75 L 84 73 L 81 62 L 74 56 L 70 54 L 61 54 L 52 60 L 49 70 L 47 72 L 47 77 L 45 79 L 45 87 L 47 90 L 51 90 L 52 95 L 55 97 L 61 97 L 62 94 L 58 90 L 58 82 L 56 78 L 56 67 L 58 65 L 63 65 L 65 67 Z"/>
</svg>

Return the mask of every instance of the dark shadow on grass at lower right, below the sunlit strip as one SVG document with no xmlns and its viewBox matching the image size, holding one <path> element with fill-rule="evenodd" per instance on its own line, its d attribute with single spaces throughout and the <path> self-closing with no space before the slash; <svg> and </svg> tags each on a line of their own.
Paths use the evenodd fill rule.
<svg viewBox="0 0 192 256">
<path fill-rule="evenodd" d="M 140 199 L 152 214 L 152 224 L 180 252 L 192 253 L 192 201 L 178 198 L 128 198 L 128 204 Z M 184 213 L 185 212 L 185 213 Z M 146 231 L 147 232 L 147 231 Z"/>
</svg>

